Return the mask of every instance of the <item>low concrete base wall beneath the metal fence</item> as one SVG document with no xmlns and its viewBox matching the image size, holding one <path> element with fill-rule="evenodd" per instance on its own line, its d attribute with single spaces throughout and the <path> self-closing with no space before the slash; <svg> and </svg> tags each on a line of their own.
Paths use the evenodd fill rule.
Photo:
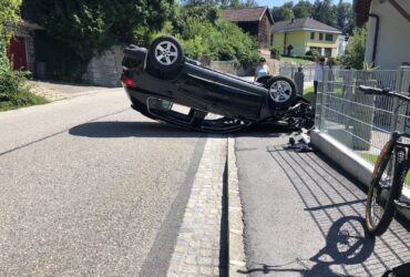
<svg viewBox="0 0 410 277">
<path fill-rule="evenodd" d="M 310 141 L 320 152 L 340 165 L 360 183 L 366 186 L 370 184 L 373 166 L 365 158 L 358 156 L 352 150 L 318 130 L 310 132 Z M 409 201 L 410 188 L 404 187 L 402 195 Z M 398 209 L 398 212 L 410 220 L 409 209 Z"/>
</svg>

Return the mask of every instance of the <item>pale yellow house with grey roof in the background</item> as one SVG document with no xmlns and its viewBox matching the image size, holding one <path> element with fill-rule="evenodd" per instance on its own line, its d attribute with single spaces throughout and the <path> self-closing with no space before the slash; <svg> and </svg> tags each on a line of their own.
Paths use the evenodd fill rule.
<svg viewBox="0 0 410 277">
<path fill-rule="evenodd" d="M 271 45 L 280 54 L 305 55 L 316 50 L 321 55 L 336 57 L 341 32 L 311 18 L 275 22 L 271 29 Z"/>
</svg>

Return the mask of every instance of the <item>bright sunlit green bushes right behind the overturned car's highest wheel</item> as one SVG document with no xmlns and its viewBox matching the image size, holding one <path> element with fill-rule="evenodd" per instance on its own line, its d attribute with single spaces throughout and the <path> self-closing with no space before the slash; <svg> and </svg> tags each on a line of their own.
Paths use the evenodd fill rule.
<svg viewBox="0 0 410 277">
<path fill-rule="evenodd" d="M 219 8 L 221 3 L 177 6 L 173 20 L 166 22 L 155 37 L 175 35 L 187 57 L 205 63 L 211 60 L 235 61 L 245 66 L 256 63 L 258 51 L 255 38 L 221 18 Z"/>
</svg>

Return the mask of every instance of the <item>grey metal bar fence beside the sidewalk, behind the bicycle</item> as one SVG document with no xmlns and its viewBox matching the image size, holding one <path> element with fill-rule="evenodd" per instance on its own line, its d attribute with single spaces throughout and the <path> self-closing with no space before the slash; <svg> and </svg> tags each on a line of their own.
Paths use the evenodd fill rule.
<svg viewBox="0 0 410 277">
<path fill-rule="evenodd" d="M 410 93 L 410 68 L 400 70 L 325 69 L 316 103 L 316 126 L 358 155 L 375 163 L 381 147 L 398 130 L 404 131 L 410 104 L 394 98 L 365 95 L 359 85 L 391 88 Z"/>
</svg>

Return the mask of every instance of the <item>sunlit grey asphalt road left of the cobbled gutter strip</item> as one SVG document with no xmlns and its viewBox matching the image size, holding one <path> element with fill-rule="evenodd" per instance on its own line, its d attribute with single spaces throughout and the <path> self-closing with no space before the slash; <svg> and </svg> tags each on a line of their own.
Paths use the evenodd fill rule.
<svg viewBox="0 0 410 277">
<path fill-rule="evenodd" d="M 123 89 L 0 113 L 0 275 L 157 276 L 201 134 L 132 111 Z"/>
</svg>

